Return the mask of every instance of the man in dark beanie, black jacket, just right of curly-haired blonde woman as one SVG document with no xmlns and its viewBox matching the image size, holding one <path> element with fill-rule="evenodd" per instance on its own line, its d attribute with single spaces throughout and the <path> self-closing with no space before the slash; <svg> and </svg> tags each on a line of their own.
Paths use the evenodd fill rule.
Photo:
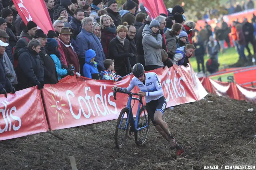
<svg viewBox="0 0 256 170">
<path fill-rule="evenodd" d="M 115 26 L 118 27 L 119 25 L 122 25 L 122 17 L 116 9 L 117 2 L 115 0 L 109 0 L 108 8 L 106 8 L 106 11 L 108 12 L 108 15 L 113 19 Z"/>
</svg>

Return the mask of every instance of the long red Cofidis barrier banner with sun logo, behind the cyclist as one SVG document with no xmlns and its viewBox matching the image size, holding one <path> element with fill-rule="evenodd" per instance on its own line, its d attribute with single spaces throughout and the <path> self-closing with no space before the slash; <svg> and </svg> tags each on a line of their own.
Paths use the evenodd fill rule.
<svg viewBox="0 0 256 170">
<path fill-rule="evenodd" d="M 154 72 L 161 79 L 167 107 L 194 102 L 207 95 L 190 67 L 166 67 Z M 64 129 L 117 119 L 121 109 L 127 104 L 128 95 L 117 94 L 117 100 L 114 100 L 111 88 L 115 85 L 128 87 L 132 77 L 130 74 L 120 82 L 87 80 L 45 85 L 42 92 L 50 129 Z M 138 90 L 136 87 L 133 92 Z M 138 102 L 135 102 L 134 115 L 137 108 Z"/>
</svg>

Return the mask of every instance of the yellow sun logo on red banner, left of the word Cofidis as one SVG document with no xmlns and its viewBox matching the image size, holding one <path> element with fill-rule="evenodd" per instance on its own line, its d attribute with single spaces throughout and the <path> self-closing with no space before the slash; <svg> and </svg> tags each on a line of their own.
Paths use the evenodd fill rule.
<svg viewBox="0 0 256 170">
<path fill-rule="evenodd" d="M 56 104 L 51 105 L 51 107 L 56 108 L 55 114 L 56 115 L 58 114 L 58 123 L 59 123 L 59 120 L 61 119 L 61 122 L 63 124 L 63 119 L 65 119 L 64 115 L 66 113 L 64 112 L 64 110 L 61 107 L 66 106 L 66 104 L 61 104 L 62 97 L 59 97 L 58 91 L 54 90 L 52 87 L 50 87 L 50 89 L 52 92 L 51 97 L 52 97 L 53 101 L 56 102 Z"/>
</svg>

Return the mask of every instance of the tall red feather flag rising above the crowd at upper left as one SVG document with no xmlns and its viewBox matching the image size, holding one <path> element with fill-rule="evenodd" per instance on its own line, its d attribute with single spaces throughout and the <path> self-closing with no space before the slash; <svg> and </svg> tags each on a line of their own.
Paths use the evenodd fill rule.
<svg viewBox="0 0 256 170">
<path fill-rule="evenodd" d="M 13 0 L 13 3 L 26 25 L 28 21 L 34 21 L 45 34 L 54 30 L 44 0 Z"/>
</svg>

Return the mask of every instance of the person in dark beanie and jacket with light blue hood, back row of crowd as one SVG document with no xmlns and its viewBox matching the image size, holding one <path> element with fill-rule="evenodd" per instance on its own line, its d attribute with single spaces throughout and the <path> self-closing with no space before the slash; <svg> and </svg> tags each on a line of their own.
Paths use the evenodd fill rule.
<svg viewBox="0 0 256 170">
<path fill-rule="evenodd" d="M 122 22 L 127 22 L 128 25 L 131 25 L 135 22 L 135 12 L 136 12 L 136 6 L 138 6 L 138 4 L 136 4 L 135 2 L 133 2 L 132 0 L 127 0 L 126 1 L 126 5 L 125 5 L 125 9 L 126 10 L 121 10 L 120 11 L 120 15 L 122 17 Z"/>
</svg>

